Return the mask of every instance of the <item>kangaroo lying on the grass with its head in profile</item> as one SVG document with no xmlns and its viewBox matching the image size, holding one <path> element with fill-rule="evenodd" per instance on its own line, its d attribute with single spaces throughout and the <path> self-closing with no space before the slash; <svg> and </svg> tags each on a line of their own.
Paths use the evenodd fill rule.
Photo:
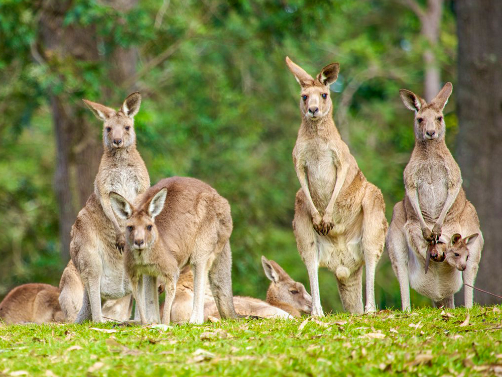
<svg viewBox="0 0 502 377">
<path fill-rule="evenodd" d="M 267 301 L 253 297 L 234 296 L 233 305 L 237 314 L 262 318 L 292 318 L 300 317 L 301 313 L 311 312 L 312 298 L 303 284 L 295 282 L 281 266 L 263 256 L 262 265 L 265 274 L 271 280 L 267 291 Z M 192 312 L 192 301 L 193 274 L 188 268 L 180 273 L 171 309 L 171 319 L 174 322 L 187 321 Z M 219 317 L 211 291 L 206 290 L 204 320 L 207 320 L 208 316 Z"/>
</svg>

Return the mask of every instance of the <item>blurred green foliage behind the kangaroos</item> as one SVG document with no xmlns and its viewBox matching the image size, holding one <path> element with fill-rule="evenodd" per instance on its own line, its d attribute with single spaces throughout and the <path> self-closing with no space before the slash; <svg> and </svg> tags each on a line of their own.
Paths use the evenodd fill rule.
<svg viewBox="0 0 502 377">
<path fill-rule="evenodd" d="M 413 115 L 398 90 L 423 93 L 426 49 L 437 58 L 441 83 L 455 86 L 453 1 L 442 5 L 432 47 L 401 1 L 144 0 L 126 8 L 117 1 L 61 2 L 65 8 L 54 17 L 63 33 L 92 33 L 97 54 L 87 60 L 78 51 L 56 56 L 47 41 L 57 35 L 41 36 L 55 3 L 0 3 L 0 298 L 26 282 L 58 285 L 67 262 L 54 190 L 54 98 L 74 109 L 83 119 L 75 127 L 85 121 L 86 135 L 100 143 L 101 123 L 81 99 L 118 108 L 140 90 L 135 127 L 151 182 L 192 176 L 229 200 L 234 294 L 264 299 L 262 255 L 310 291 L 291 226 L 300 187 L 291 153 L 301 117 L 300 89 L 285 56 L 312 75 L 340 63 L 331 85 L 335 122 L 367 179 L 383 191 L 389 221 L 403 198 L 403 169 L 414 145 Z M 135 73 L 117 83 L 110 70 L 118 50 L 133 52 Z M 449 146 L 457 133 L 454 96 L 445 112 Z M 74 155 L 85 148 L 72 143 Z M 68 174 L 92 189 L 71 159 Z M 76 214 L 81 201 L 73 202 Z M 341 310 L 333 275 L 322 270 L 319 279 L 324 309 Z M 400 307 L 386 254 L 375 294 L 381 308 Z M 413 294 L 413 303 L 429 305 Z"/>
</svg>

